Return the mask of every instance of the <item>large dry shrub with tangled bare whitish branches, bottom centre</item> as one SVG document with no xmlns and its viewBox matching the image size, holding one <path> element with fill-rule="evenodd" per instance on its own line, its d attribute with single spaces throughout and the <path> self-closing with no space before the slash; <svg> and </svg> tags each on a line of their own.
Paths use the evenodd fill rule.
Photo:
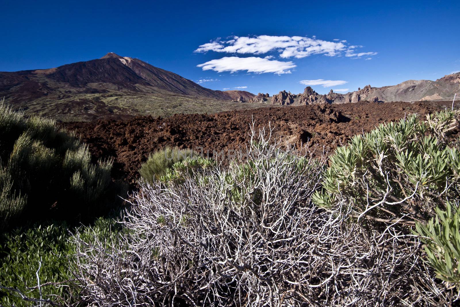
<svg viewBox="0 0 460 307">
<path fill-rule="evenodd" d="M 98 306 L 400 306 L 450 304 L 398 223 L 316 207 L 324 159 L 277 154 L 265 133 L 249 158 L 141 185 L 118 238 L 77 238 L 81 299 Z M 90 233 L 86 233 L 88 237 Z"/>
</svg>

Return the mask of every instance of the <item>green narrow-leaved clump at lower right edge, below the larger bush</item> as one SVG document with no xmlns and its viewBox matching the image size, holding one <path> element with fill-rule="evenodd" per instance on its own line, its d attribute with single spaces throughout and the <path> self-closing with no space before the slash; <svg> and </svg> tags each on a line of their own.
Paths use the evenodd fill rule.
<svg viewBox="0 0 460 307">
<path fill-rule="evenodd" d="M 446 203 L 446 211 L 436 208 L 436 217 L 426 225 L 417 223 L 416 234 L 425 243 L 427 262 L 437 278 L 460 286 L 460 208 Z"/>
</svg>

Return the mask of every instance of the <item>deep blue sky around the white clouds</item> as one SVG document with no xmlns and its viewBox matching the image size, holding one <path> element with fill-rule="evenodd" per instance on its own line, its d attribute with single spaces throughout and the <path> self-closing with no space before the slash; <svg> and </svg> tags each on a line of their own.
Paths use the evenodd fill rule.
<svg viewBox="0 0 460 307">
<path fill-rule="evenodd" d="M 247 87 L 252 93 L 273 94 L 283 89 L 300 93 L 302 80 L 347 81 L 312 86 L 326 93 L 331 88 L 353 91 L 367 84 L 435 80 L 460 70 L 460 1 L 346 2 L 0 0 L 0 71 L 45 69 L 115 52 L 193 81 L 218 80 L 201 83 L 204 87 Z M 347 42 L 333 57 L 282 58 L 279 49 L 259 54 L 194 52 L 219 38 L 259 35 L 315 35 L 316 40 Z M 350 49 L 352 45 L 362 47 Z M 345 56 L 353 52 L 377 54 L 369 60 Z M 284 74 L 196 67 L 224 57 L 265 56 L 272 57 L 265 62 L 293 62 L 296 67 Z"/>
</svg>

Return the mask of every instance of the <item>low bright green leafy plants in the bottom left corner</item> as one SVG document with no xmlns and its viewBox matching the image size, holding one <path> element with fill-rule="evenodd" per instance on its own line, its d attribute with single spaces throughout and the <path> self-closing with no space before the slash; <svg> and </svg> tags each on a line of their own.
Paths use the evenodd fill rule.
<svg viewBox="0 0 460 307">
<path fill-rule="evenodd" d="M 90 240 L 90 233 L 101 240 L 114 238 L 120 232 L 118 224 L 100 218 L 93 226 L 79 227 L 80 236 Z M 75 284 L 70 260 L 76 252 L 73 235 L 65 222 L 16 228 L 1 237 L 0 287 L 21 291 L 31 298 L 40 298 L 36 272 L 40 277 L 43 298 L 69 306 L 78 300 L 80 288 Z M 17 292 L 0 288 L 0 305 L 27 306 Z"/>
</svg>

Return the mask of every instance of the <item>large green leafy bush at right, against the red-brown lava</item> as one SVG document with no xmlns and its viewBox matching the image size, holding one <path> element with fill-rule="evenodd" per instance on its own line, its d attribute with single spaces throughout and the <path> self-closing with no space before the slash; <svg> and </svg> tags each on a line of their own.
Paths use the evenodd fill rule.
<svg viewBox="0 0 460 307">
<path fill-rule="evenodd" d="M 348 199 L 359 218 L 429 219 L 436 206 L 445 208 L 446 198 L 459 197 L 459 148 L 448 142 L 459 116 L 443 111 L 427 122 L 411 116 L 352 137 L 330 157 L 314 202 L 335 210 Z"/>
</svg>

